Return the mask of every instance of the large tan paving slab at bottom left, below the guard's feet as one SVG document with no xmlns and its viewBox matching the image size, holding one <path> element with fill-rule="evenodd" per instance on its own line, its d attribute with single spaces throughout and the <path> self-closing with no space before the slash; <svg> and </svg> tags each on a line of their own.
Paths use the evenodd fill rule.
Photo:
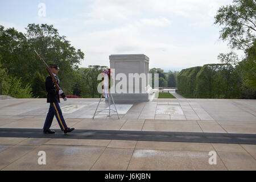
<svg viewBox="0 0 256 182">
<path fill-rule="evenodd" d="M 102 154 L 104 149 L 104 147 L 43 145 L 28 152 L 9 166 L 3 168 L 3 170 L 89 170 Z M 39 151 L 46 152 L 46 165 L 38 164 Z M 3 155 L 3 152 L 0 153 L 0 156 Z M 20 153 L 17 152 L 17 154 Z"/>
</svg>

